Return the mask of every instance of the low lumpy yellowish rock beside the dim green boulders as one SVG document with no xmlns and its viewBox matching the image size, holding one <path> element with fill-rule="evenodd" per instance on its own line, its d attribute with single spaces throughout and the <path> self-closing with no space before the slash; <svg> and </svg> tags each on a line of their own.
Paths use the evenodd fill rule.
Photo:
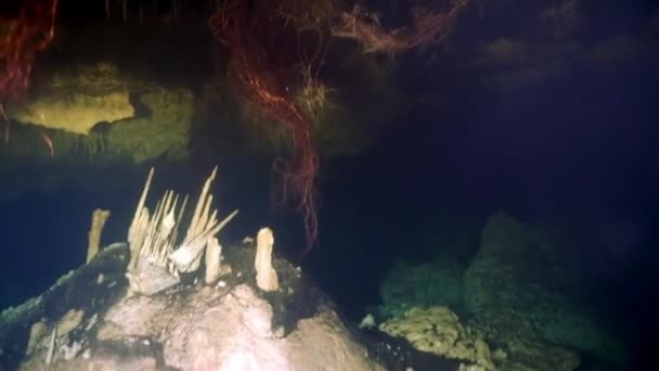
<svg viewBox="0 0 659 371">
<path fill-rule="evenodd" d="M 488 345 L 447 307 L 413 308 L 379 330 L 406 338 L 418 350 L 473 363 L 470 370 L 494 370 Z"/>
</svg>

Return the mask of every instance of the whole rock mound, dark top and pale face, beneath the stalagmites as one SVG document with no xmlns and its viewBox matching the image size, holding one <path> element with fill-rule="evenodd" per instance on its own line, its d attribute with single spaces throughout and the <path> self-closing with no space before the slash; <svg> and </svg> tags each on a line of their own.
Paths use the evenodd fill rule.
<svg viewBox="0 0 659 371">
<path fill-rule="evenodd" d="M 106 248 L 2 314 L 0 370 L 44 370 L 51 348 L 52 370 L 382 370 L 332 307 L 296 283 L 295 269 L 275 261 L 285 290 L 263 297 L 254 289 L 254 253 L 229 252 L 237 273 L 218 285 L 128 296 L 128 251 Z"/>
</svg>

